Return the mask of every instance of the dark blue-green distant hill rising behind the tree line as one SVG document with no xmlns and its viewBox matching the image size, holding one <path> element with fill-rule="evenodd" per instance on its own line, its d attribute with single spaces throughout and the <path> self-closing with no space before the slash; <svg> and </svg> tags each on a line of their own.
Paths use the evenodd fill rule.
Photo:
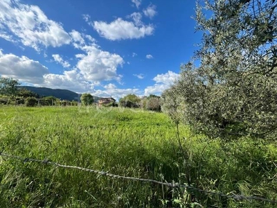
<svg viewBox="0 0 277 208">
<path fill-rule="evenodd" d="M 28 89 L 39 96 L 54 96 L 56 98 L 60 98 L 61 100 L 67 101 L 78 101 L 81 94 L 72 92 L 68 89 L 51 89 L 48 87 L 30 87 L 30 86 L 20 86 L 22 88 Z"/>
</svg>

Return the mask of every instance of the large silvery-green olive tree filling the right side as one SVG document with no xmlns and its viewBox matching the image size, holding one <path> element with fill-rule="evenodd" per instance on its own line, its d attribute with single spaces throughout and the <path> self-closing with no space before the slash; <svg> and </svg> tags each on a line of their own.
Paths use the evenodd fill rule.
<svg viewBox="0 0 277 208">
<path fill-rule="evenodd" d="M 182 121 L 212 137 L 276 135 L 276 8 L 274 0 L 197 4 L 200 49 L 163 94 L 182 105 Z"/>
</svg>

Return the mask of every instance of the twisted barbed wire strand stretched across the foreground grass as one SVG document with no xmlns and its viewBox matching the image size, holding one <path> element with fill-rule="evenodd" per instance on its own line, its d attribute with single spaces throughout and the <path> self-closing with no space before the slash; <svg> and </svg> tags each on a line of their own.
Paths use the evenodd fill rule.
<svg viewBox="0 0 277 208">
<path fill-rule="evenodd" d="M 73 168 L 73 169 L 78 169 L 80 171 L 87 171 L 87 172 L 91 172 L 91 173 L 97 173 L 99 175 L 105 175 L 108 177 L 112 177 L 112 178 L 116 178 L 116 179 L 123 179 L 123 180 L 134 180 L 134 181 L 141 181 L 141 182 L 151 182 L 151 183 L 155 183 L 155 184 L 161 184 L 164 185 L 166 187 L 170 187 L 173 189 L 179 189 L 179 188 L 185 188 L 188 189 L 189 191 L 198 191 L 199 193 L 203 193 L 206 195 L 211 195 L 211 196 L 221 196 L 224 198 L 233 198 L 234 200 L 259 200 L 259 201 L 264 201 L 264 202 L 270 202 L 270 203 L 274 203 L 277 204 L 277 201 L 275 200 L 269 200 L 267 198 L 261 198 L 259 196 L 243 196 L 240 194 L 234 194 L 234 193 L 229 193 L 229 194 L 224 194 L 221 192 L 216 192 L 216 191 L 206 191 L 203 189 L 199 189 L 199 188 L 195 188 L 192 186 L 189 186 L 187 184 L 177 184 L 177 183 L 168 183 L 168 182 L 160 182 L 157 180 L 152 180 L 152 179 L 145 179 L 145 178 L 139 178 L 139 177 L 128 177 L 128 176 L 123 176 L 123 175 L 115 175 L 115 174 L 111 174 L 111 173 L 107 173 L 105 171 L 97 171 L 97 170 L 93 170 L 90 168 L 82 168 L 79 166 L 68 166 L 68 165 L 64 165 L 64 164 L 59 164 L 57 162 L 52 162 L 51 160 L 48 159 L 32 159 L 29 157 L 20 157 L 17 155 L 8 155 L 6 153 L 0 152 L 0 156 L 1 157 L 8 157 L 8 158 L 13 158 L 13 159 L 17 159 L 17 160 L 21 160 L 23 162 L 38 162 L 38 163 L 42 163 L 42 164 L 48 164 L 48 165 L 53 165 L 53 166 L 57 166 L 57 167 L 61 167 L 61 168 Z"/>
</svg>

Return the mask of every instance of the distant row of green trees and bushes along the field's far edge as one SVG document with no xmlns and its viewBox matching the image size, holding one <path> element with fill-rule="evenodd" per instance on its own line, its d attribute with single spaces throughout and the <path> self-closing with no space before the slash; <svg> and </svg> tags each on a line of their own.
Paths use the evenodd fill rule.
<svg viewBox="0 0 277 208">
<path fill-rule="evenodd" d="M 18 80 L 12 78 L 0 78 L 0 104 L 2 105 L 26 105 L 33 107 L 36 105 L 78 105 L 78 101 L 60 101 L 54 96 L 41 97 L 24 87 L 19 87 Z M 84 93 L 80 97 L 80 102 L 84 106 L 96 105 L 93 96 Z M 118 103 L 109 103 L 104 107 L 132 107 L 143 108 L 145 110 L 161 111 L 161 98 L 150 94 L 150 96 L 139 97 L 135 94 L 128 94 L 119 99 Z"/>
</svg>

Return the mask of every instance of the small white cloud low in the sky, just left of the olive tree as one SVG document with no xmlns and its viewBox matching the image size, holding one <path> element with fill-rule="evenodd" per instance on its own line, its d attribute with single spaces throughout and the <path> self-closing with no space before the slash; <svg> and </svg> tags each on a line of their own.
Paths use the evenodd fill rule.
<svg viewBox="0 0 277 208">
<path fill-rule="evenodd" d="M 179 79 L 179 74 L 173 71 L 168 71 L 167 73 L 158 74 L 153 78 L 156 82 L 153 86 L 148 86 L 144 90 L 146 96 L 150 94 L 161 94 L 164 90 L 168 89 L 175 80 Z"/>
</svg>

